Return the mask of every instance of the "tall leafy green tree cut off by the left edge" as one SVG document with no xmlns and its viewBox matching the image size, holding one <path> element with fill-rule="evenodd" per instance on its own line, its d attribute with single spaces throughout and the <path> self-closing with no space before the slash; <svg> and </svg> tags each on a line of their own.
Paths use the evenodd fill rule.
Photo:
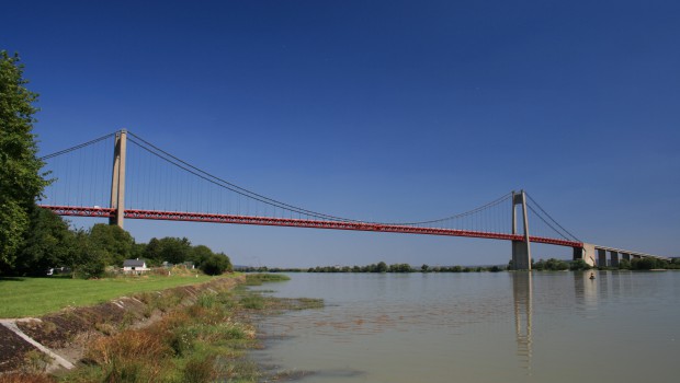
<svg viewBox="0 0 680 383">
<path fill-rule="evenodd" d="M 48 184 L 32 134 L 37 93 L 29 91 L 18 55 L 0 51 L 0 264 L 12 266 L 30 209 Z"/>
</svg>

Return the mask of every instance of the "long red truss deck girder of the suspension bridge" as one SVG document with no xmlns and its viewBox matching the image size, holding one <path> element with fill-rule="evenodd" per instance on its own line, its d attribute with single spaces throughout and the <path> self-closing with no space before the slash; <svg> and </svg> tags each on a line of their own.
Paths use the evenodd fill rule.
<svg viewBox="0 0 680 383">
<path fill-rule="evenodd" d="M 80 216 L 80 217 L 114 217 L 115 210 L 110 208 L 80 208 L 65 206 L 43 206 L 59 216 Z M 212 223 L 236 223 L 236 224 L 257 224 L 269 227 L 293 227 L 293 228 L 313 228 L 313 229 L 331 229 L 331 230 L 355 230 L 355 231 L 376 231 L 385 233 L 407 233 L 407 234 L 426 234 L 426 235 L 450 235 L 450 236 L 467 236 L 477 239 L 506 240 L 506 241 L 523 241 L 523 235 L 491 233 L 483 231 L 457 230 L 457 229 L 438 229 L 438 228 L 417 228 L 398 224 L 381 224 L 367 222 L 351 221 L 320 221 L 320 220 L 303 220 L 293 218 L 273 218 L 273 217 L 251 217 L 251 216 L 234 216 L 234 214 L 208 214 L 200 212 L 180 212 L 180 211 L 158 211 L 158 210 L 125 210 L 125 218 L 145 219 L 145 220 L 165 220 L 165 221 L 191 221 L 191 222 L 212 222 Z M 530 236 L 531 242 L 546 243 L 552 245 L 567 247 L 583 247 L 580 242 L 565 241 L 558 239 L 549 239 L 543 236 Z"/>
</svg>

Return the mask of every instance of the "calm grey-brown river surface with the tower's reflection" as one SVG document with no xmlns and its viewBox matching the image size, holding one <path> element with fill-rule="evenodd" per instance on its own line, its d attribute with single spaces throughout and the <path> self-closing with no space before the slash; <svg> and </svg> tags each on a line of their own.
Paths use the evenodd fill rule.
<svg viewBox="0 0 680 383">
<path fill-rule="evenodd" d="M 680 272 L 292 274 L 257 361 L 303 382 L 677 382 Z"/>
</svg>

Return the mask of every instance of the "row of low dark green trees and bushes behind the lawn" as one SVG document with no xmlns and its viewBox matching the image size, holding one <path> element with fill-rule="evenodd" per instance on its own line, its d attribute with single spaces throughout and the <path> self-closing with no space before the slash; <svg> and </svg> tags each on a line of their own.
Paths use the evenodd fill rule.
<svg viewBox="0 0 680 383">
<path fill-rule="evenodd" d="M 120 268 L 125 259 L 134 258 L 145 259 L 150 267 L 163 262 L 191 262 L 208 275 L 233 269 L 226 254 L 214 253 L 204 245 L 194 246 L 185 237 L 136 243 L 117 225 L 98 223 L 87 230 L 72 230 L 61 217 L 34 206 L 14 262 L 4 263 L 1 270 L 5 275 L 45 275 L 49 268 L 66 267 L 75 277 L 93 278 L 103 276 L 107 267 Z"/>
</svg>

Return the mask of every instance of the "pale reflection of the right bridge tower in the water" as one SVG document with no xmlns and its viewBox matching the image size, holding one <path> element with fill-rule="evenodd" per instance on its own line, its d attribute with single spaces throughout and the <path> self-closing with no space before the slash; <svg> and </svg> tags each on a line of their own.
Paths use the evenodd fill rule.
<svg viewBox="0 0 680 383">
<path fill-rule="evenodd" d="M 525 368 L 531 370 L 531 316 L 533 295 L 531 271 L 512 272 L 512 295 L 514 298 L 517 355 L 525 362 Z"/>
</svg>

